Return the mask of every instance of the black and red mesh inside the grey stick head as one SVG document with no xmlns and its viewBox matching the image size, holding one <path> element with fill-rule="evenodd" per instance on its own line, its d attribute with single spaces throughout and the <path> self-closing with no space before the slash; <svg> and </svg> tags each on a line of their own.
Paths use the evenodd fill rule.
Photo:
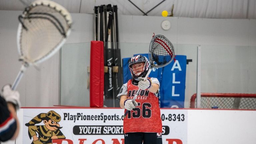
<svg viewBox="0 0 256 144">
<path fill-rule="evenodd" d="M 167 64 L 170 62 L 174 55 L 173 45 L 164 38 L 159 35 L 155 38 L 152 47 L 152 59 L 156 62 L 158 66 Z"/>
</svg>

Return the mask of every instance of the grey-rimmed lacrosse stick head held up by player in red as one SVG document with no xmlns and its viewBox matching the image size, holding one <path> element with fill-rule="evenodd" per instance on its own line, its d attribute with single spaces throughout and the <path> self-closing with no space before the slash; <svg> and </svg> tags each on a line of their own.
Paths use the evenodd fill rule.
<svg viewBox="0 0 256 144">
<path fill-rule="evenodd" d="M 149 63 L 151 68 L 168 65 L 175 57 L 172 43 L 163 35 L 155 35 L 149 46 Z"/>
</svg>

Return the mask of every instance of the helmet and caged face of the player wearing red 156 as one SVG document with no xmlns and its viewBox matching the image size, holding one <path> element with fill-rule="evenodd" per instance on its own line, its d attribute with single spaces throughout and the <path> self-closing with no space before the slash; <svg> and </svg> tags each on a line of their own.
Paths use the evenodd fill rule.
<svg viewBox="0 0 256 144">
<path fill-rule="evenodd" d="M 149 61 L 142 55 L 134 56 L 129 61 L 129 69 L 132 79 L 138 81 L 139 77 L 145 77 L 149 70 Z"/>
</svg>

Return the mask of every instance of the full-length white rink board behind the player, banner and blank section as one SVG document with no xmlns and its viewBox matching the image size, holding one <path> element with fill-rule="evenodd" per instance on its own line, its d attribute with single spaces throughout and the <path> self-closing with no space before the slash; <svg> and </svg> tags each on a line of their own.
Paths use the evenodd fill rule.
<svg viewBox="0 0 256 144">
<path fill-rule="evenodd" d="M 31 143 L 33 139 L 29 138 L 25 124 L 51 110 L 61 116 L 60 131 L 66 137 L 65 141 L 55 142 L 57 144 L 123 144 L 123 109 L 62 107 L 21 108 L 17 112 L 21 130 L 16 144 Z M 163 144 L 254 144 L 256 141 L 255 110 L 164 108 L 161 119 Z"/>
</svg>

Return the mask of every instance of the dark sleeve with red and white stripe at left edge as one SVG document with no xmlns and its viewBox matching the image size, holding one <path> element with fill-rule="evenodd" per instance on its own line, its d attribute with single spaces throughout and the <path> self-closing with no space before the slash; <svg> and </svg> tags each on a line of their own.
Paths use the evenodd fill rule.
<svg viewBox="0 0 256 144">
<path fill-rule="evenodd" d="M 6 101 L 0 95 L 0 141 L 11 139 L 16 128 L 16 120 L 11 116 Z"/>
</svg>

